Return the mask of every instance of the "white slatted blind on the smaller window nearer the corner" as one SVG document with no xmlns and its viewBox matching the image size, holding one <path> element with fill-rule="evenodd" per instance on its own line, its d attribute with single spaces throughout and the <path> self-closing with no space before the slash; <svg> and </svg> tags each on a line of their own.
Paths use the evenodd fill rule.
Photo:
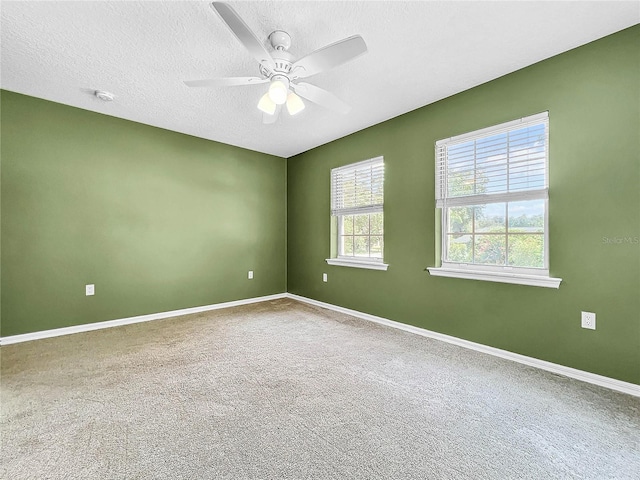
<svg viewBox="0 0 640 480">
<path fill-rule="evenodd" d="M 331 170 L 331 215 L 382 212 L 383 205 L 383 157 Z"/>
</svg>

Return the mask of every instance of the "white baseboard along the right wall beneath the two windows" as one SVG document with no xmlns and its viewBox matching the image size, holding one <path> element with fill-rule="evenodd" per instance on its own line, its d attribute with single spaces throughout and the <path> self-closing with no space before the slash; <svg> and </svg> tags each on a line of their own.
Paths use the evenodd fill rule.
<svg viewBox="0 0 640 480">
<path fill-rule="evenodd" d="M 393 320 L 389 320 L 386 318 L 376 317 L 375 315 L 358 312 L 357 310 L 351 310 L 349 308 L 339 307 L 337 305 L 332 305 L 330 303 L 320 302 L 318 300 L 302 297 L 300 295 L 295 295 L 293 293 L 287 293 L 286 297 L 291 298 L 293 300 L 298 300 L 300 302 L 308 303 L 310 305 L 315 305 L 317 307 L 327 308 L 329 310 L 334 310 L 336 312 L 345 313 L 353 317 L 362 318 L 363 320 L 369 320 L 371 322 L 386 325 L 388 327 L 393 327 L 400 330 L 404 330 L 406 332 L 422 335 L 423 337 L 434 338 L 436 340 L 441 340 L 443 342 L 451 343 L 453 345 L 469 348 L 471 350 L 476 350 L 482 353 L 488 353 L 489 355 L 494 355 L 496 357 L 512 360 L 514 362 L 522 363 L 524 365 L 529 365 L 530 367 L 540 368 L 542 370 L 547 370 L 548 372 L 564 375 L 565 377 L 575 378 L 576 380 L 581 380 L 583 382 L 592 383 L 594 385 L 599 385 L 601 387 L 609 388 L 611 390 L 616 390 L 618 392 L 627 393 L 629 395 L 640 397 L 640 385 L 636 385 L 635 383 L 623 382 L 621 380 L 616 380 L 615 378 L 609 378 L 602 375 L 597 375 L 595 373 L 585 372 L 583 370 L 578 370 L 571 367 L 565 367 L 564 365 L 558 365 L 556 363 L 539 360 L 537 358 L 527 357 L 525 355 L 509 352 L 507 350 L 501 350 L 499 348 L 489 347 L 487 345 L 482 345 L 481 343 L 470 342 L 468 340 L 452 337 L 450 335 L 444 335 L 442 333 L 432 332 L 430 330 L 425 330 L 423 328 L 414 327 L 413 325 L 407 325 L 405 323 L 395 322 Z"/>
</svg>

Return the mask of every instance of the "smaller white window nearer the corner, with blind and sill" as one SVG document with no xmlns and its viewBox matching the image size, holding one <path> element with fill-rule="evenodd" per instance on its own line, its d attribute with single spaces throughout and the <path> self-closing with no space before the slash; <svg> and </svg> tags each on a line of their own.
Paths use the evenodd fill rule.
<svg viewBox="0 0 640 480">
<path fill-rule="evenodd" d="M 330 265 L 386 270 L 384 253 L 384 159 L 331 170 Z"/>
</svg>

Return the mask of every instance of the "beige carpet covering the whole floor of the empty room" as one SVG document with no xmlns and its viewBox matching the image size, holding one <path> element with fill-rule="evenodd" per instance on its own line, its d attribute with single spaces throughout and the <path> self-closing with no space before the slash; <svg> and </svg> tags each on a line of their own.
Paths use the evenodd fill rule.
<svg viewBox="0 0 640 480">
<path fill-rule="evenodd" d="M 3 479 L 640 478 L 640 399 L 293 300 L 1 355 Z"/>
</svg>

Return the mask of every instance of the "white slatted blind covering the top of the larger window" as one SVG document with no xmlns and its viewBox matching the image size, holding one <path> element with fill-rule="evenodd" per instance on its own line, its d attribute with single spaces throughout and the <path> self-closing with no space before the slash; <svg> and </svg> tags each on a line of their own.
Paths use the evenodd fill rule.
<svg viewBox="0 0 640 480">
<path fill-rule="evenodd" d="M 548 113 L 436 142 L 436 206 L 547 198 Z"/>
</svg>

